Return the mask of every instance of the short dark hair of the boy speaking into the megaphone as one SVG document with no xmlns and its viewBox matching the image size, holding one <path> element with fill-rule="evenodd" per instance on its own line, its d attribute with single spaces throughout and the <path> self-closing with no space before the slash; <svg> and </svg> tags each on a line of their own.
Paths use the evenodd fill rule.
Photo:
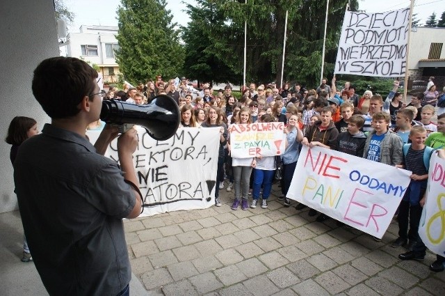
<svg viewBox="0 0 445 296">
<path fill-rule="evenodd" d="M 96 78 L 96 70 L 80 59 L 49 58 L 34 70 L 33 94 L 49 117 L 72 117 L 79 113 L 81 100 L 95 91 Z"/>
</svg>

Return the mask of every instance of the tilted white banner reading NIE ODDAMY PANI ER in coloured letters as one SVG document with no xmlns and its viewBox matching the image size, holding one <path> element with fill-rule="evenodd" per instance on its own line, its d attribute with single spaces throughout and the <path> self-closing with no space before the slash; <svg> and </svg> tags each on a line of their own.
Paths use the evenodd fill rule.
<svg viewBox="0 0 445 296">
<path fill-rule="evenodd" d="M 382 237 L 410 184 L 410 171 L 303 146 L 286 197 Z"/>
</svg>

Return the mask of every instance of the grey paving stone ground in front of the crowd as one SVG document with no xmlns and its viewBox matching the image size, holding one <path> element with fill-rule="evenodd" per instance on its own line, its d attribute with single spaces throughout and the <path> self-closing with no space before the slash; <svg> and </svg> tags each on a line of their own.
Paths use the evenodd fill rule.
<svg viewBox="0 0 445 296">
<path fill-rule="evenodd" d="M 227 185 L 227 183 L 226 183 Z M 382 242 L 356 229 L 321 223 L 278 201 L 267 209 L 170 212 L 124 221 L 133 274 L 150 295 L 445 295 L 435 255 L 402 261 L 396 220 Z"/>
</svg>

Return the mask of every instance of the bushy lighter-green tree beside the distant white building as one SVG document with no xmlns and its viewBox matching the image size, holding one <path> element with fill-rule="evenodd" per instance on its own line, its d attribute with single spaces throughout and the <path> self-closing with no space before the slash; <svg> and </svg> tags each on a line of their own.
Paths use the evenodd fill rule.
<svg viewBox="0 0 445 296">
<path fill-rule="evenodd" d="M 184 63 L 179 31 L 165 0 L 122 0 L 118 8 L 116 61 L 125 79 L 138 84 L 156 75 L 176 77 Z"/>
</svg>

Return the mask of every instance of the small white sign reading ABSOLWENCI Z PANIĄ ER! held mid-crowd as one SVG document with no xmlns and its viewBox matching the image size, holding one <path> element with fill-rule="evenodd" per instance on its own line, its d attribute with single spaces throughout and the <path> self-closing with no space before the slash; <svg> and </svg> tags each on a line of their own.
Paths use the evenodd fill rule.
<svg viewBox="0 0 445 296">
<path fill-rule="evenodd" d="M 232 157 L 275 156 L 284 153 L 284 123 L 251 123 L 231 125 Z"/>
</svg>

